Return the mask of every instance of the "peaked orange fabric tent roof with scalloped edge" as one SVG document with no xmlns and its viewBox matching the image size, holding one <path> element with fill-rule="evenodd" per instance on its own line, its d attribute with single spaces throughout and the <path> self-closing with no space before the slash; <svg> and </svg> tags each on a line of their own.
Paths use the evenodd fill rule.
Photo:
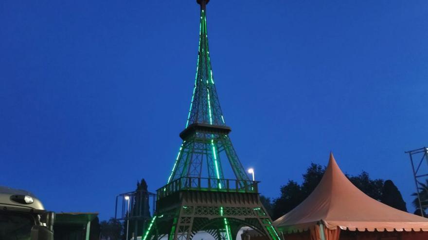
<svg viewBox="0 0 428 240">
<path fill-rule="evenodd" d="M 428 231 L 428 219 L 389 207 L 367 196 L 342 173 L 333 154 L 315 190 L 274 222 L 284 232 L 307 230 L 318 223 L 351 231 Z"/>
</svg>

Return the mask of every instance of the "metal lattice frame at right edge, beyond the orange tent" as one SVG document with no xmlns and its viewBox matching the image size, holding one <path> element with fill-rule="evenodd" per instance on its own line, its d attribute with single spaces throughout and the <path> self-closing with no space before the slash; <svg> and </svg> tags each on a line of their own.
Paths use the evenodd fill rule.
<svg viewBox="0 0 428 240">
<path fill-rule="evenodd" d="M 420 190 L 421 188 L 426 187 L 425 183 L 421 182 L 421 180 L 428 178 L 428 168 L 424 168 L 423 166 L 425 162 L 428 167 L 428 147 L 406 151 L 405 153 L 409 154 L 411 168 L 413 171 L 413 178 L 416 186 L 416 195 L 418 198 L 419 209 L 421 211 L 421 215 L 425 217 L 424 209 L 428 208 L 428 199 L 421 199 Z"/>
</svg>

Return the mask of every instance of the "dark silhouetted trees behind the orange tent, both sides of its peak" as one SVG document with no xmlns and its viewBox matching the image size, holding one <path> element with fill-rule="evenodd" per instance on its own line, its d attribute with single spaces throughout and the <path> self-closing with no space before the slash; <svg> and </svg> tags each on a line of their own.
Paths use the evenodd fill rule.
<svg viewBox="0 0 428 240">
<path fill-rule="evenodd" d="M 281 195 L 273 201 L 265 196 L 260 200 L 272 216 L 277 219 L 303 202 L 306 197 L 317 187 L 324 175 L 325 167 L 312 163 L 303 174 L 303 183 L 298 184 L 296 181 L 288 180 L 281 186 Z M 406 203 L 398 191 L 397 187 L 391 180 L 371 179 L 367 172 L 362 171 L 357 176 L 346 175 L 348 179 L 362 192 L 370 197 L 403 211 L 407 211 Z"/>
</svg>

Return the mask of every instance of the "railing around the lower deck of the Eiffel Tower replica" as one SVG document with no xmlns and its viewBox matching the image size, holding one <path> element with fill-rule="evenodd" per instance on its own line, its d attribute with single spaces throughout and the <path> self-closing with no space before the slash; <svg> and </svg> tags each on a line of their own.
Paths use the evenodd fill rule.
<svg viewBox="0 0 428 240">
<path fill-rule="evenodd" d="M 211 191 L 211 192 L 251 192 L 257 193 L 258 181 L 217 179 L 205 177 L 180 177 L 157 190 L 157 198 L 166 197 L 174 192 Z"/>
</svg>

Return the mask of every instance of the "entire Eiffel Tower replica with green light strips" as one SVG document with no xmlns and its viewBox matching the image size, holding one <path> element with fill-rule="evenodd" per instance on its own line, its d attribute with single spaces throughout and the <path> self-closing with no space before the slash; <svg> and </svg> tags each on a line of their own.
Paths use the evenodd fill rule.
<svg viewBox="0 0 428 240">
<path fill-rule="evenodd" d="M 157 190 L 156 213 L 142 240 L 191 240 L 206 231 L 215 240 L 235 240 L 250 226 L 269 240 L 280 240 L 229 138 L 214 85 L 208 48 L 206 5 L 200 5 L 199 51 L 192 101 L 183 140 L 167 184 Z M 225 179 L 220 160 L 234 179 Z M 226 161 L 223 161 L 226 164 Z M 228 167 L 229 167 L 228 166 Z"/>
</svg>

